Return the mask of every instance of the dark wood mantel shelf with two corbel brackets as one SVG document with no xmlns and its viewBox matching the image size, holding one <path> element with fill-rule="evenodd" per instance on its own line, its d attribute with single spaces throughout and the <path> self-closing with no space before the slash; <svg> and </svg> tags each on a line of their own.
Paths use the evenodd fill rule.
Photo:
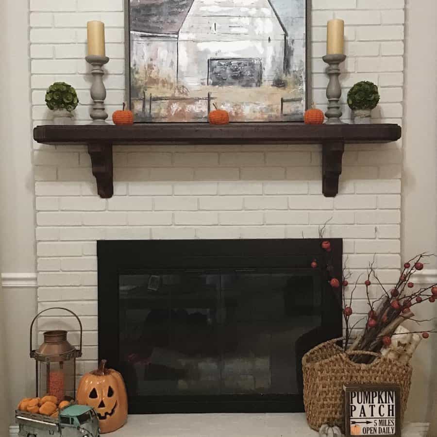
<svg viewBox="0 0 437 437">
<path fill-rule="evenodd" d="M 304 125 L 302 123 L 150 123 L 133 126 L 37 126 L 38 143 L 86 144 L 99 195 L 113 195 L 113 145 L 240 145 L 240 144 L 321 144 L 323 151 L 323 194 L 338 192 L 345 144 L 388 143 L 401 138 L 397 124 Z"/>
</svg>

